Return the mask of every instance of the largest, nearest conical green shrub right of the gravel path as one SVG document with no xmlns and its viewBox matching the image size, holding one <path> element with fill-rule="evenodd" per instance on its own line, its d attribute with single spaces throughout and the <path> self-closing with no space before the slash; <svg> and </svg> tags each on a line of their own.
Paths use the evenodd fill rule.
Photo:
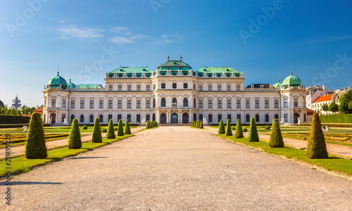
<svg viewBox="0 0 352 211">
<path fill-rule="evenodd" d="M 327 146 L 325 144 L 322 124 L 318 113 L 313 114 L 312 126 L 310 127 L 310 136 L 307 146 L 308 158 L 327 158 Z"/>
</svg>

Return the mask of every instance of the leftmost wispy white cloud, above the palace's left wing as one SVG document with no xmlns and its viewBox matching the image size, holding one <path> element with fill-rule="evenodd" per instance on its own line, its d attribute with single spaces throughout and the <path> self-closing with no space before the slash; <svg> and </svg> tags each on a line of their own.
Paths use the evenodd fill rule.
<svg viewBox="0 0 352 211">
<path fill-rule="evenodd" d="M 98 37 L 103 37 L 103 30 L 94 29 L 92 27 L 82 27 L 78 28 L 75 25 L 69 25 L 67 27 L 63 27 L 58 29 L 61 33 L 61 39 L 69 39 L 70 37 L 80 37 L 87 39 L 94 39 Z"/>
</svg>

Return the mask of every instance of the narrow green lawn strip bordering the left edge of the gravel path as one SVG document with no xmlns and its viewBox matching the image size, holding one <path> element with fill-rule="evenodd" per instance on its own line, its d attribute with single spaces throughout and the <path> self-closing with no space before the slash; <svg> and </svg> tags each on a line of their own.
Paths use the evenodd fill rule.
<svg viewBox="0 0 352 211">
<path fill-rule="evenodd" d="M 19 158 L 13 158 L 11 159 L 11 167 L 12 167 L 11 173 L 20 174 L 20 173 L 29 172 L 31 168 L 36 165 L 44 165 L 47 162 L 57 161 L 57 160 L 60 160 L 61 158 L 65 158 L 68 156 L 75 156 L 79 153 L 82 153 L 85 151 L 91 151 L 93 148 L 103 146 L 130 136 L 134 136 L 134 135 L 116 136 L 116 139 L 103 139 L 103 143 L 85 142 L 85 143 L 82 143 L 82 148 L 80 149 L 58 148 L 52 151 L 48 151 L 48 158 L 46 159 L 27 159 L 25 158 L 25 156 L 22 156 Z M 0 177 L 3 177 L 6 174 L 6 171 L 9 169 L 5 168 L 6 167 L 5 160 L 0 161 L 0 166 L 1 166 Z"/>
</svg>

